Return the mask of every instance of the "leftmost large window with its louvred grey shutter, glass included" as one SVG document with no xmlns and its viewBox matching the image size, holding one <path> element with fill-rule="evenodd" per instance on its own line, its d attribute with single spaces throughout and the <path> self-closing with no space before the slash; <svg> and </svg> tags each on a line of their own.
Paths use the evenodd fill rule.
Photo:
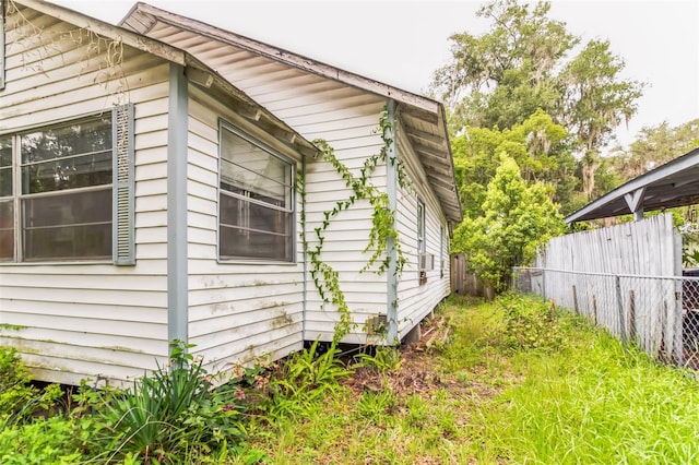
<svg viewBox="0 0 699 465">
<path fill-rule="evenodd" d="M 0 136 L 0 261 L 132 262 L 131 108 Z"/>
</svg>

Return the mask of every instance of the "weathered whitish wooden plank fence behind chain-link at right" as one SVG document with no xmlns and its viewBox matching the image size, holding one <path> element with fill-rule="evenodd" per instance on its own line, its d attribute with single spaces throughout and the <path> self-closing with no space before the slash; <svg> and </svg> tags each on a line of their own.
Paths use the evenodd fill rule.
<svg viewBox="0 0 699 465">
<path fill-rule="evenodd" d="M 694 339 L 684 334 L 699 333 L 699 282 L 682 276 L 682 239 L 670 214 L 554 238 L 534 267 L 514 270 L 513 287 L 553 299 L 652 357 L 695 365 Z"/>
</svg>

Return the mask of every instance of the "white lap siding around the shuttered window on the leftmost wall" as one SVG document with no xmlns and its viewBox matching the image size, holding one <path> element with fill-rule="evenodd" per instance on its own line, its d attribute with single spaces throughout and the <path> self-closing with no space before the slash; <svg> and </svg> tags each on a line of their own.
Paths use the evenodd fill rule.
<svg viewBox="0 0 699 465">
<path fill-rule="evenodd" d="M 43 41 L 8 33 L 0 131 L 134 103 L 137 264 L 0 265 L 0 345 L 16 347 L 39 380 L 120 383 L 167 355 L 168 64 L 125 48 L 122 64 L 109 69 L 104 55 L 85 58 L 86 41 L 66 38 L 74 26 L 23 13 L 44 27 Z"/>
</svg>

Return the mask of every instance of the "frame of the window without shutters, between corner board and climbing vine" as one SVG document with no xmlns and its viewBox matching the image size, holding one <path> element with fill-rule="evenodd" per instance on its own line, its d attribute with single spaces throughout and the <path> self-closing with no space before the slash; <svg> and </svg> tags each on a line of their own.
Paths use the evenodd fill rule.
<svg viewBox="0 0 699 465">
<path fill-rule="evenodd" d="M 275 157 L 276 159 L 279 159 L 280 162 L 282 162 L 285 166 L 284 168 L 287 170 L 287 174 L 289 175 L 289 183 L 287 186 L 285 186 L 285 188 L 288 188 L 288 205 L 284 206 L 284 207 L 279 207 L 275 205 L 272 205 L 268 202 L 264 201 L 259 201 L 259 200 L 254 200 L 254 199 L 250 199 L 249 196 L 246 195 L 240 195 L 234 192 L 230 192 L 226 189 L 222 188 L 222 181 L 223 181 L 223 163 L 224 163 L 224 157 L 223 157 L 223 146 L 224 146 L 224 131 L 228 131 L 230 132 L 233 135 L 242 139 L 244 141 L 252 144 L 253 146 L 258 147 L 259 150 L 268 153 L 270 156 Z M 230 160 L 226 160 L 227 163 L 233 163 Z M 259 139 L 252 136 L 251 134 L 247 133 L 246 131 L 244 131 L 242 129 L 236 127 L 235 124 L 230 123 L 229 121 L 226 121 L 223 118 L 218 119 L 218 169 L 217 169 L 217 183 L 216 183 L 216 260 L 218 263 L 222 264 L 279 264 L 279 265 L 295 265 L 298 262 L 297 259 L 297 240 L 296 240 L 296 235 L 297 235 L 297 220 L 296 220 L 296 213 L 297 213 L 297 205 L 296 205 L 296 188 L 295 188 L 295 180 L 296 180 L 296 172 L 297 172 L 297 166 L 296 166 L 296 160 L 294 158 L 291 158 L 288 156 L 285 156 L 284 154 L 280 153 L 279 151 L 272 148 L 270 145 L 265 144 L 264 142 L 260 141 Z M 222 255 L 222 242 L 223 242 L 223 235 L 221 234 L 221 228 L 222 228 L 222 195 L 227 195 L 229 198 L 233 199 L 237 199 L 240 201 L 245 201 L 245 202 L 249 202 L 248 204 L 253 204 L 253 205 L 260 205 L 262 207 L 266 207 L 270 210 L 275 210 L 275 211 L 280 211 L 283 213 L 288 214 L 288 220 L 291 222 L 291 225 L 287 225 L 289 228 L 289 234 L 288 234 L 288 247 L 289 247 L 289 259 L 280 259 L 280 258 L 266 258 L 266 257 L 233 257 L 233 255 Z"/>
</svg>

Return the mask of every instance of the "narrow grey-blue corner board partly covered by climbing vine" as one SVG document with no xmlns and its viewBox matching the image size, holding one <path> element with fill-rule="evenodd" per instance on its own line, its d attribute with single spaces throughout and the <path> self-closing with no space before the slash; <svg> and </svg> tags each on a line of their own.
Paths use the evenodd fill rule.
<svg viewBox="0 0 699 465">
<path fill-rule="evenodd" d="M 386 139 L 390 140 L 386 154 L 386 191 L 389 198 L 389 210 L 393 212 L 392 228 L 395 228 L 398 214 L 398 159 L 395 151 L 395 100 L 390 99 L 387 104 L 389 127 L 386 129 Z M 386 245 L 388 253 L 388 270 L 386 272 L 387 282 L 387 320 L 388 333 L 387 344 L 399 344 L 398 337 L 398 249 L 395 238 L 390 237 Z"/>
</svg>

